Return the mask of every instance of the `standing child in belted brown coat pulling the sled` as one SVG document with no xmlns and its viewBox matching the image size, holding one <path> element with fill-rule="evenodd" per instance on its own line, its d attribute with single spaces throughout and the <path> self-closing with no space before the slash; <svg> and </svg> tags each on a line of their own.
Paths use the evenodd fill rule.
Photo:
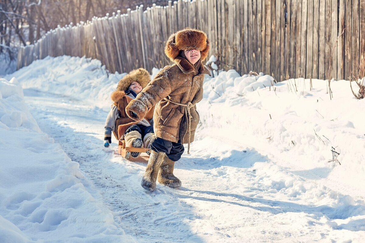
<svg viewBox="0 0 365 243">
<path fill-rule="evenodd" d="M 199 122 L 196 103 L 203 98 L 204 75 L 210 71 L 202 61 L 207 58 L 209 41 L 200 30 L 186 28 L 170 36 L 165 54 L 174 62 L 165 66 L 126 107 L 127 115 L 140 121 L 156 105 L 151 156 L 141 185 L 147 191 L 156 188 L 156 180 L 169 187 L 180 187 L 173 175 L 174 163 L 184 152 L 183 144 L 194 140 Z"/>
</svg>

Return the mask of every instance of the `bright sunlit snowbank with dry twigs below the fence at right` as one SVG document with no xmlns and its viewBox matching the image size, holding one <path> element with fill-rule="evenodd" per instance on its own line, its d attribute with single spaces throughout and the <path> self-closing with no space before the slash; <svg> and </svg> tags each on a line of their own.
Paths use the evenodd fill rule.
<svg viewBox="0 0 365 243">
<path fill-rule="evenodd" d="M 313 79 L 310 85 L 310 79 L 274 83 L 262 73 L 241 77 L 234 70 L 222 71 L 205 79 L 204 98 L 197 105 L 201 127 L 249 139 L 256 149 L 291 161 L 282 166 L 311 171 L 344 188 L 351 185 L 364 195 L 365 99 L 353 97 L 349 81 L 331 82 L 332 99 L 327 81 Z M 314 185 L 281 180 L 280 172 L 270 174 L 282 181 L 272 182 L 273 189 L 293 197 L 321 197 L 308 190 Z"/>
</svg>

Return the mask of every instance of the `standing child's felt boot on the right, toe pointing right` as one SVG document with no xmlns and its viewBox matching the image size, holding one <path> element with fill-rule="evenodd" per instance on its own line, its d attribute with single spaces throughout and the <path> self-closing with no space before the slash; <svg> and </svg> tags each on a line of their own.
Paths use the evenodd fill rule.
<svg viewBox="0 0 365 243">
<path fill-rule="evenodd" d="M 164 156 L 158 170 L 158 183 L 168 187 L 181 187 L 181 181 L 173 174 L 174 164 L 175 161 L 170 160 L 166 155 Z"/>
</svg>

